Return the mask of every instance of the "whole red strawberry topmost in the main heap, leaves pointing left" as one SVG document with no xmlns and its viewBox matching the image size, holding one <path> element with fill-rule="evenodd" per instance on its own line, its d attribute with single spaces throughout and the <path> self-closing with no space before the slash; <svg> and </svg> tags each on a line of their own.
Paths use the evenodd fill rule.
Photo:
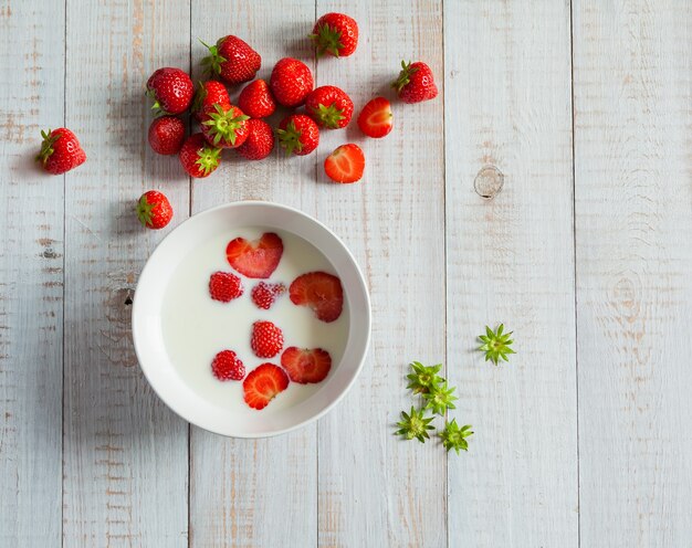
<svg viewBox="0 0 692 548">
<path fill-rule="evenodd" d="M 209 49 L 209 55 L 202 60 L 206 72 L 229 84 L 251 81 L 262 65 L 260 54 L 238 36 L 223 36 L 217 45 L 205 45 Z"/>
</svg>

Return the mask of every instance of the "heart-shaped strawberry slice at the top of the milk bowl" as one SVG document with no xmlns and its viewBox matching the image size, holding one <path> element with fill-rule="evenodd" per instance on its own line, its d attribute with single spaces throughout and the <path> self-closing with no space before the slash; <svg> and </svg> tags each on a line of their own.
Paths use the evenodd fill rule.
<svg viewBox="0 0 692 548">
<path fill-rule="evenodd" d="M 283 242 L 274 232 L 265 232 L 254 242 L 237 238 L 226 247 L 229 264 L 242 275 L 255 278 L 270 277 L 279 266 L 282 254 Z"/>
</svg>

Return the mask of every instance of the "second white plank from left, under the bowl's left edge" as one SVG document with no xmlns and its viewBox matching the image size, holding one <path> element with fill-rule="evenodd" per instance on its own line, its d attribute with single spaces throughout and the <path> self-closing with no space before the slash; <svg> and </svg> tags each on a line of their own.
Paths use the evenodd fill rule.
<svg viewBox="0 0 692 548">
<path fill-rule="evenodd" d="M 171 17 L 171 13 L 175 17 Z M 187 0 L 67 2 L 66 124 L 87 162 L 66 176 L 64 546 L 187 546 L 187 424 L 153 393 L 134 356 L 132 297 L 169 228 L 137 223 L 164 189 L 187 218 L 177 158 L 148 148 L 146 81 L 187 68 Z"/>
</svg>

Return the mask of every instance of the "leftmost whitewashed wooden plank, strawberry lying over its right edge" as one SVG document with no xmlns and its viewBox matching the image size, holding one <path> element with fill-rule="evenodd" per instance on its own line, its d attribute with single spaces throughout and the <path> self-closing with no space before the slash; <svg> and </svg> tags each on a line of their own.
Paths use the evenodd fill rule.
<svg viewBox="0 0 692 548">
<path fill-rule="evenodd" d="M 0 2 L 0 546 L 17 548 L 61 542 L 64 180 L 33 158 L 63 125 L 63 20 Z"/>
</svg>

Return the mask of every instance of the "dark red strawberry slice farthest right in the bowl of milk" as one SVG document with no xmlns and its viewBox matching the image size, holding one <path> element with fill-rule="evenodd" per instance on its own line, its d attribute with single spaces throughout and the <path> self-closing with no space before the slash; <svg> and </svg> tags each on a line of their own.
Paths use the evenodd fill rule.
<svg viewBox="0 0 692 548">
<path fill-rule="evenodd" d="M 296 277 L 289 288 L 291 302 L 308 306 L 322 322 L 334 322 L 344 308 L 344 289 L 338 277 L 326 272 L 308 272 Z"/>
</svg>

